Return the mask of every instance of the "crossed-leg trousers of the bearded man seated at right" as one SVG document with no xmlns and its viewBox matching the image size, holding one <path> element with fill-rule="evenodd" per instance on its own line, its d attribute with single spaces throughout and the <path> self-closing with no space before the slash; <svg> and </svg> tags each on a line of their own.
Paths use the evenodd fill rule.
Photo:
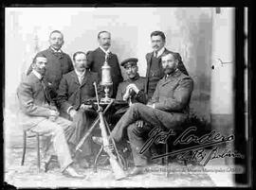
<svg viewBox="0 0 256 190">
<path fill-rule="evenodd" d="M 139 153 L 140 148 L 147 140 L 147 134 L 155 127 L 163 130 L 176 129 L 186 121 L 188 115 L 181 112 L 164 112 L 150 108 L 141 103 L 131 105 L 127 112 L 119 120 L 118 124 L 111 131 L 110 137 L 119 142 L 125 130 L 131 144 L 134 162 L 136 165 L 147 164 L 149 152 Z M 149 125 L 143 126 L 142 129 L 136 125 L 137 120 L 143 120 Z"/>
</svg>

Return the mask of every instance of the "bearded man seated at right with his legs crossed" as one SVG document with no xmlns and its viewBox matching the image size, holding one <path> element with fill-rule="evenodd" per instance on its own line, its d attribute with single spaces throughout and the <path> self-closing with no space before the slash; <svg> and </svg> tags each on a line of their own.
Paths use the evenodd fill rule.
<svg viewBox="0 0 256 190">
<path fill-rule="evenodd" d="M 152 99 L 147 105 L 133 104 L 110 133 L 110 138 L 119 142 L 127 129 L 136 165 L 131 175 L 142 173 L 147 164 L 146 156 L 139 153 L 144 144 L 144 134 L 155 127 L 165 130 L 178 128 L 189 116 L 192 78 L 177 69 L 178 59 L 174 53 L 163 55 L 161 62 L 165 76 L 158 81 Z M 138 127 L 136 122 L 140 119 L 150 125 Z"/>
</svg>

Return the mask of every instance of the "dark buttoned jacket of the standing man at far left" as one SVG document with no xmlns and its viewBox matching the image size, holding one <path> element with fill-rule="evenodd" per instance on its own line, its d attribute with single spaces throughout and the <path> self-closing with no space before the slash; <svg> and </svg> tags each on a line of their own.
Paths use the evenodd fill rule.
<svg viewBox="0 0 256 190">
<path fill-rule="evenodd" d="M 46 65 L 46 74 L 45 79 L 47 83 L 50 83 L 48 87 L 50 88 L 50 95 L 52 98 L 57 96 L 57 90 L 59 88 L 60 81 L 64 74 L 74 70 L 72 60 L 70 57 L 65 54 L 64 52 L 61 54 L 56 54 L 54 51 L 49 47 L 48 49 L 37 53 L 38 55 L 44 55 L 47 59 Z M 27 70 L 27 75 L 31 72 L 32 67 Z"/>
</svg>

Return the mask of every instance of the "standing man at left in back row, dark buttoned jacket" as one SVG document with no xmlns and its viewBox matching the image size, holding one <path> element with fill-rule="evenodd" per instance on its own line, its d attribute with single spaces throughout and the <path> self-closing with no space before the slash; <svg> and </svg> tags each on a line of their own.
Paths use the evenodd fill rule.
<svg viewBox="0 0 256 190">
<path fill-rule="evenodd" d="M 51 98 L 55 100 L 57 96 L 57 90 L 59 88 L 60 81 L 64 74 L 72 71 L 73 64 L 70 57 L 61 49 L 64 45 L 64 35 L 59 30 L 54 30 L 49 35 L 50 46 L 39 52 L 37 56 L 45 56 L 47 59 L 46 75 L 44 80 Z M 30 66 L 27 75 L 32 71 Z"/>
</svg>

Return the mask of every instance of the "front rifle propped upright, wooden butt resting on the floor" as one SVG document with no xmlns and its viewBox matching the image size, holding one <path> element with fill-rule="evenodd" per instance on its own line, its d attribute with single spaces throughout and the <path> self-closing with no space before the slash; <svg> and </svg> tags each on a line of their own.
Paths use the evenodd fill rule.
<svg viewBox="0 0 256 190">
<path fill-rule="evenodd" d="M 99 113 L 99 118 L 100 118 L 100 128 L 101 128 L 101 136 L 102 136 L 102 140 L 103 140 L 103 147 L 109 147 L 110 144 L 109 144 L 109 141 L 107 138 L 107 131 L 106 131 L 106 126 L 105 126 L 105 122 L 104 122 L 102 109 L 100 107 L 96 82 L 94 82 L 94 87 L 95 87 L 95 94 L 96 94 L 97 104 L 98 104 L 98 113 Z M 113 102 L 113 100 L 111 101 L 111 103 L 112 102 Z M 109 156 L 109 162 L 111 164 L 111 167 L 114 172 L 116 180 L 125 178 L 126 175 L 125 175 L 124 171 L 122 170 L 121 166 L 119 165 L 119 162 L 117 161 L 117 157 L 113 154 L 113 152 L 109 148 L 105 149 L 105 151 Z"/>
</svg>

